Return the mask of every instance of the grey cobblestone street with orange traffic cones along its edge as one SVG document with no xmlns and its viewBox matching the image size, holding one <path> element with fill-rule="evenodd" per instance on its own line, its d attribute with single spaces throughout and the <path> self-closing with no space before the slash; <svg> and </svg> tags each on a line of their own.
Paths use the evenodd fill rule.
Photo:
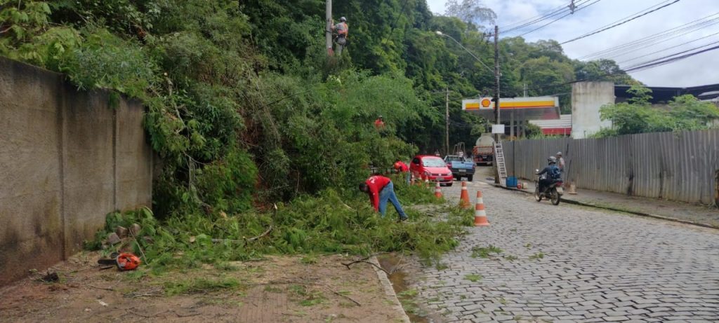
<svg viewBox="0 0 719 323">
<path fill-rule="evenodd" d="M 538 203 L 479 179 L 469 189 L 490 227 L 470 228 L 414 286 L 446 322 L 719 321 L 719 230 Z M 456 200 L 460 183 L 443 192 Z"/>
</svg>

